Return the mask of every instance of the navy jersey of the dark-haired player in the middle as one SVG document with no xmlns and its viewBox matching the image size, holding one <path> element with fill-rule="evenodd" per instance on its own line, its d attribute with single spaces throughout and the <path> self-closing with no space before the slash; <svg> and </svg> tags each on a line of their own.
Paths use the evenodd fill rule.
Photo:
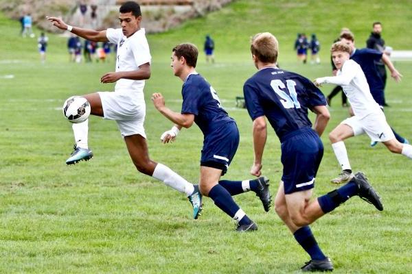
<svg viewBox="0 0 412 274">
<path fill-rule="evenodd" d="M 194 114 L 194 123 L 203 132 L 205 138 L 218 132 L 220 127 L 234 120 L 220 105 L 216 90 L 206 82 L 200 74 L 192 74 L 187 77 L 182 88 L 182 114 Z"/>
</svg>

